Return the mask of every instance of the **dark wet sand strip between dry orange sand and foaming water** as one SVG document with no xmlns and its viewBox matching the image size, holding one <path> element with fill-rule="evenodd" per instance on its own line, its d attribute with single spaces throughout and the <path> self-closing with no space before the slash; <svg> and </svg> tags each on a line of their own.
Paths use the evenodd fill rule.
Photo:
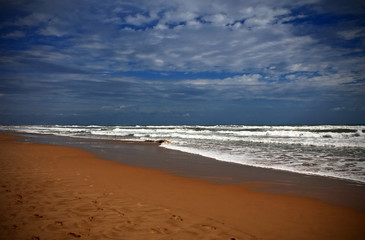
<svg viewBox="0 0 365 240">
<path fill-rule="evenodd" d="M 245 166 L 159 147 L 158 143 L 17 134 L 23 141 L 73 146 L 123 165 L 201 179 L 214 184 L 269 183 L 255 191 L 309 197 L 365 211 L 365 184 L 350 180 Z"/>
</svg>

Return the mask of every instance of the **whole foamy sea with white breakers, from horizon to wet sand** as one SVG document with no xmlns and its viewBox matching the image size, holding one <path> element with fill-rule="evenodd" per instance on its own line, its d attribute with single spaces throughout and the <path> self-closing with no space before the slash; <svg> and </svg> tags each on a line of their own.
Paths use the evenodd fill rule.
<svg viewBox="0 0 365 240">
<path fill-rule="evenodd" d="M 219 161 L 365 183 L 365 125 L 0 126 L 3 131 L 121 141 Z"/>
</svg>

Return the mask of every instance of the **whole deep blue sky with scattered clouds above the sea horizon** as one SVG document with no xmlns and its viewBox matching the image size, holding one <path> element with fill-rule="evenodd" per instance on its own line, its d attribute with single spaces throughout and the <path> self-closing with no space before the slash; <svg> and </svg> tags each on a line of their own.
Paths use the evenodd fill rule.
<svg viewBox="0 0 365 240">
<path fill-rule="evenodd" d="M 0 124 L 365 124 L 365 1 L 0 0 Z"/>
</svg>

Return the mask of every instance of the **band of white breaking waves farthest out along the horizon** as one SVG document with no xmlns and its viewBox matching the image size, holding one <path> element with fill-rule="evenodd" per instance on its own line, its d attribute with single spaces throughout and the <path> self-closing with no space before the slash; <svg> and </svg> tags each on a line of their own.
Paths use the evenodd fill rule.
<svg viewBox="0 0 365 240">
<path fill-rule="evenodd" d="M 211 140 L 334 147 L 365 147 L 365 126 L 2 126 L 15 131 L 128 140 Z M 0 128 L 0 129 L 1 129 Z M 153 138 L 153 139 L 151 139 Z"/>
</svg>

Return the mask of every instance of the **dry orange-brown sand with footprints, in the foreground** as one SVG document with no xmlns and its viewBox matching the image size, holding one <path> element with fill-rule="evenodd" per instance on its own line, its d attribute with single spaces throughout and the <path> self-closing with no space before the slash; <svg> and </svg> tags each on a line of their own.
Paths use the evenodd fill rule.
<svg viewBox="0 0 365 240">
<path fill-rule="evenodd" d="M 1 239 L 365 239 L 365 212 L 0 135 Z"/>
</svg>

